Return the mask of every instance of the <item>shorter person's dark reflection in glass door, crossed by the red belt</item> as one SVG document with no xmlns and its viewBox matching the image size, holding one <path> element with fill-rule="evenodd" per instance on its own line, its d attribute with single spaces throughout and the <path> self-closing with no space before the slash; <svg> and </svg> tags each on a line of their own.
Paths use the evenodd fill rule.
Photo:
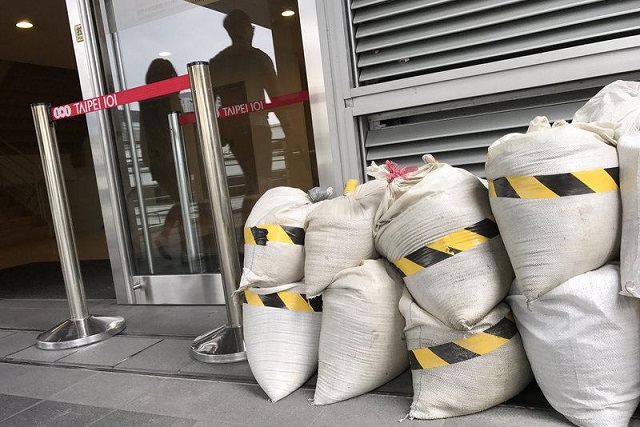
<svg viewBox="0 0 640 427">
<path fill-rule="evenodd" d="M 171 61 L 156 58 L 151 61 L 145 81 L 147 84 L 176 77 Z M 140 140 L 142 142 L 143 160 L 151 176 L 160 188 L 171 197 L 173 206 L 167 212 L 156 246 L 160 254 L 171 259 L 167 241 L 171 230 L 181 224 L 180 195 L 178 193 L 178 179 L 173 160 L 173 148 L 167 115 L 180 109 L 180 98 L 177 93 L 167 96 L 140 101 Z M 184 253 L 184 231 L 178 227 L 180 233 L 181 250 Z"/>
</svg>

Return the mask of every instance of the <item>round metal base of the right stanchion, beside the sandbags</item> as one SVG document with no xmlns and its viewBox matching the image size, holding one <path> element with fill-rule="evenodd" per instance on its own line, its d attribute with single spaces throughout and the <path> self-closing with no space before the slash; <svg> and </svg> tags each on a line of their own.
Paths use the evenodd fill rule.
<svg viewBox="0 0 640 427">
<path fill-rule="evenodd" d="M 191 356 L 205 363 L 232 363 L 247 360 L 242 328 L 225 325 L 200 335 L 191 344 Z"/>
</svg>

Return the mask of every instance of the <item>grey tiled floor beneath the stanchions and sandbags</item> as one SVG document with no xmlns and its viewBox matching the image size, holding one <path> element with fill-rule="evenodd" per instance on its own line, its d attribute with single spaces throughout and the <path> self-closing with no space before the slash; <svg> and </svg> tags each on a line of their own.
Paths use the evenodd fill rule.
<svg viewBox="0 0 640 427">
<path fill-rule="evenodd" d="M 314 378 L 269 402 L 246 362 L 206 364 L 189 355 L 196 335 L 225 323 L 224 307 L 92 300 L 89 311 L 123 316 L 127 328 L 87 347 L 44 351 L 35 347 L 36 336 L 68 317 L 66 301 L 0 300 L 0 427 L 396 426 L 411 404 L 409 371 L 372 393 L 329 406 L 310 402 Z M 404 422 L 570 425 L 540 395 L 465 417 Z"/>
</svg>

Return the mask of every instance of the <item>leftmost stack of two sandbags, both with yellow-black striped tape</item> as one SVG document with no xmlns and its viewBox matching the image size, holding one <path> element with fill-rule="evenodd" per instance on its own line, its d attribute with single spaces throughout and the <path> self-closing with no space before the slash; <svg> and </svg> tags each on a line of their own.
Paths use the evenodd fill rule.
<svg viewBox="0 0 640 427">
<path fill-rule="evenodd" d="M 311 194 L 311 193 L 310 193 Z M 244 228 L 244 268 L 239 292 L 247 360 L 272 401 L 289 395 L 316 371 L 322 300 L 305 295 L 307 216 L 330 194 L 268 190 Z"/>
</svg>

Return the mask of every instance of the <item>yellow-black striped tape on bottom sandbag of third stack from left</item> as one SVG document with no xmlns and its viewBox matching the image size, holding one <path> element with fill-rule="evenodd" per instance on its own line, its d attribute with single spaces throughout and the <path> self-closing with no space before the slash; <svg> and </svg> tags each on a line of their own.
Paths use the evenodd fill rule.
<svg viewBox="0 0 640 427">
<path fill-rule="evenodd" d="M 518 333 L 511 313 L 483 332 L 433 347 L 409 351 L 411 369 L 433 369 L 482 356 L 502 347 Z"/>
</svg>

